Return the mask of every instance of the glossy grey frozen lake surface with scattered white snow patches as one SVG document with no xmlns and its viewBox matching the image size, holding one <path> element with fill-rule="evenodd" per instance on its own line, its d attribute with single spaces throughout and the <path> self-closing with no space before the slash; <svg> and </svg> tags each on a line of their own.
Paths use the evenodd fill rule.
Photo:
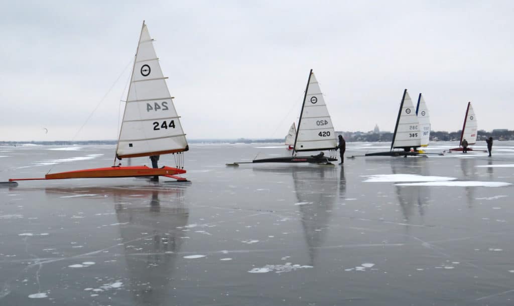
<svg viewBox="0 0 514 306">
<path fill-rule="evenodd" d="M 225 166 L 287 154 L 278 143 L 190 148 L 189 184 L 0 188 L 0 305 L 514 304 L 514 142 L 496 141 L 491 158 L 358 157 L 344 167 Z M 388 149 L 348 142 L 346 156 Z M 0 181 L 112 166 L 114 151 L 0 147 Z"/>
</svg>

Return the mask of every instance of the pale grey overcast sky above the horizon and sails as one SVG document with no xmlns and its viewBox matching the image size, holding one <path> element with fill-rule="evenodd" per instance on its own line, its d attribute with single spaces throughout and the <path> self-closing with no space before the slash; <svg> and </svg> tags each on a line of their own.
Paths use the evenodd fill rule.
<svg viewBox="0 0 514 306">
<path fill-rule="evenodd" d="M 404 88 L 413 101 L 423 93 L 432 130 L 460 129 L 468 101 L 479 129 L 514 129 L 510 1 L 4 1 L 0 11 L 0 140 L 117 139 L 143 20 L 190 139 L 284 137 L 311 68 L 336 130 L 394 130 Z"/>
</svg>

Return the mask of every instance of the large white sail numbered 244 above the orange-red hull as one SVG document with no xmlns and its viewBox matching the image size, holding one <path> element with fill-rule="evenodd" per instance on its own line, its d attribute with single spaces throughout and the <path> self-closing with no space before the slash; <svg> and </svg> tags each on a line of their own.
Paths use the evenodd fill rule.
<svg viewBox="0 0 514 306">
<path fill-rule="evenodd" d="M 122 158 L 187 151 L 185 135 L 143 23 L 116 154 Z"/>
</svg>

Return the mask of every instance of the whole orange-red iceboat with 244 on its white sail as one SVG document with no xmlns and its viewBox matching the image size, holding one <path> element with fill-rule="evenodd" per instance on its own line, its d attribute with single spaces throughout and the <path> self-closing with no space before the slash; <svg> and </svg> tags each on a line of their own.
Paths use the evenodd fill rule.
<svg viewBox="0 0 514 306">
<path fill-rule="evenodd" d="M 178 154 L 177 168 L 118 166 L 46 174 L 44 178 L 10 178 L 9 182 L 37 179 L 166 176 L 185 181 L 176 174 L 186 173 L 182 167 L 182 152 L 188 151 L 186 134 L 180 125 L 166 79 L 159 65 L 148 28 L 141 28 L 134 59 L 125 111 L 121 124 L 116 157 Z M 115 159 L 116 164 L 116 159 Z"/>
</svg>

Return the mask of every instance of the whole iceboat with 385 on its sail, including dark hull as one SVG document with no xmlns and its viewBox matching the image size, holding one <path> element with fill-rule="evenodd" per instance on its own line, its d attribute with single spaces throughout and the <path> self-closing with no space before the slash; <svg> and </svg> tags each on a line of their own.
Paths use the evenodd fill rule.
<svg viewBox="0 0 514 306">
<path fill-rule="evenodd" d="M 421 146 L 421 137 L 419 130 L 419 121 L 415 113 L 414 105 L 411 97 L 407 93 L 407 89 L 403 91 L 401 98 L 398 117 L 394 127 L 393 141 L 391 149 L 388 152 L 368 153 L 364 156 L 407 156 L 418 155 L 417 151 L 411 151 L 411 148 Z M 393 151 L 393 149 L 403 149 L 403 151 Z M 355 156 L 350 156 L 350 158 Z"/>
</svg>

